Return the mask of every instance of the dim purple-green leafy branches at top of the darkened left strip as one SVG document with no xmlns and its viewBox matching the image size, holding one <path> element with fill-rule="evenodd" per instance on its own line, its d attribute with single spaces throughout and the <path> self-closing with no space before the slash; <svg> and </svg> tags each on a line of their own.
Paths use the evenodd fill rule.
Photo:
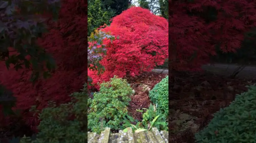
<svg viewBox="0 0 256 143">
<path fill-rule="evenodd" d="M 59 8 L 59 0 L 0 2 L 0 58 L 7 68 L 13 64 L 16 70 L 32 69 L 32 81 L 42 72 L 44 77 L 50 76 L 50 71 L 55 68 L 54 60 L 36 40 L 47 32 L 46 19 L 41 14 L 50 13 L 56 19 Z"/>
</svg>

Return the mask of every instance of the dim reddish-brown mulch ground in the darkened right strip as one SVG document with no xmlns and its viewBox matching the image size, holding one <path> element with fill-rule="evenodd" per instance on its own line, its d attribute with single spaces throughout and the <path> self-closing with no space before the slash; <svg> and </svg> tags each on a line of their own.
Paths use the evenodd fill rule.
<svg viewBox="0 0 256 143">
<path fill-rule="evenodd" d="M 177 72 L 173 73 L 170 78 L 169 109 L 180 110 L 197 117 L 194 123 L 199 126 L 198 130 L 202 130 L 208 124 L 213 118 L 213 113 L 228 106 L 236 94 L 247 91 L 246 85 L 256 83 L 256 79 L 232 79 L 208 72 Z M 169 116 L 169 124 L 170 119 Z M 169 134 L 169 139 L 177 143 L 194 143 L 194 133 L 188 129 Z"/>
</svg>

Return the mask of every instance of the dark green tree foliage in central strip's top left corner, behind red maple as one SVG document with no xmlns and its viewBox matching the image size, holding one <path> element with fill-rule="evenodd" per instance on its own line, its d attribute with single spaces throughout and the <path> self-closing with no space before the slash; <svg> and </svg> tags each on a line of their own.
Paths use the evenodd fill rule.
<svg viewBox="0 0 256 143">
<path fill-rule="evenodd" d="M 114 10 L 104 8 L 101 0 L 88 0 L 88 35 L 104 24 L 109 25 L 114 16 Z"/>
</svg>

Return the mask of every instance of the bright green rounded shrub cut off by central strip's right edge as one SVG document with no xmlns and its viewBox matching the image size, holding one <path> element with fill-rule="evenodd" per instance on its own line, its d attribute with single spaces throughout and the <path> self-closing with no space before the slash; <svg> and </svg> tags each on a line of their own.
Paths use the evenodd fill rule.
<svg viewBox="0 0 256 143">
<path fill-rule="evenodd" d="M 159 109 L 165 116 L 168 116 L 168 76 L 155 85 L 149 92 L 149 97 L 151 101 L 157 105 L 157 109 Z"/>
</svg>

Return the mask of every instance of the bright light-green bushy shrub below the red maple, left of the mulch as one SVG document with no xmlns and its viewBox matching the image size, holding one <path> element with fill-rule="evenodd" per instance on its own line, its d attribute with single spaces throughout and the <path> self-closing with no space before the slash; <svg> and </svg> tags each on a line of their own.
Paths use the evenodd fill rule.
<svg viewBox="0 0 256 143">
<path fill-rule="evenodd" d="M 118 130 L 123 117 L 128 115 L 127 105 L 131 101 L 132 92 L 126 80 L 117 76 L 102 83 L 93 99 L 88 99 L 88 129 L 96 133 L 105 127 Z"/>
</svg>

